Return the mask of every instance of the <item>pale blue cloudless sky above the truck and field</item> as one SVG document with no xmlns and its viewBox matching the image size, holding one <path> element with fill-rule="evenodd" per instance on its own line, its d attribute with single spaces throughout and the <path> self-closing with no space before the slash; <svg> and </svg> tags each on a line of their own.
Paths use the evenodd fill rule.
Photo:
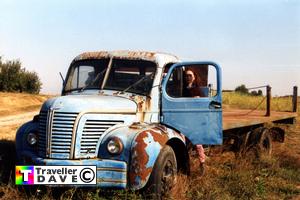
<svg viewBox="0 0 300 200">
<path fill-rule="evenodd" d="M 99 50 L 168 52 L 214 61 L 223 89 L 300 87 L 299 0 L 1 0 L 0 56 L 59 94 L 70 62 Z"/>
</svg>

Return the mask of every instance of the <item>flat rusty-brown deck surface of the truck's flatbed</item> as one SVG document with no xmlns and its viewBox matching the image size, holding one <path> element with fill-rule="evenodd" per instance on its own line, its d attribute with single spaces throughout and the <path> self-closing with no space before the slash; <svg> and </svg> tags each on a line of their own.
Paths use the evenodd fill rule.
<svg viewBox="0 0 300 200">
<path fill-rule="evenodd" d="M 242 109 L 224 109 L 223 110 L 223 131 L 242 128 L 253 125 L 260 125 L 268 122 L 294 119 L 297 113 L 271 111 L 271 116 L 266 117 L 266 111 Z"/>
</svg>

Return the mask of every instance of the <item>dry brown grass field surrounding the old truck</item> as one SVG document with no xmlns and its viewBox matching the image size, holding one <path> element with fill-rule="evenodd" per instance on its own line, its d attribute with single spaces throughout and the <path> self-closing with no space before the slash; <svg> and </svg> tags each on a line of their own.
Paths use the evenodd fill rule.
<svg viewBox="0 0 300 200">
<path fill-rule="evenodd" d="M 32 115 L 38 112 L 46 98 L 48 96 L 0 93 L 0 119 L 28 111 Z M 226 107 L 251 109 L 256 107 L 261 98 L 230 93 L 224 94 L 224 103 Z M 290 110 L 290 102 L 290 98 L 273 99 L 272 109 Z M 28 119 L 31 117 L 27 116 Z M 5 166 L 7 169 L 7 166 L 13 166 L 13 150 L 9 149 L 14 147 L 14 134 L 21 123 L 18 121 L 6 128 L 3 124 L 5 120 L 0 124 L 0 151 L 7 152 L 9 159 L 0 158 L 0 168 Z M 262 157 L 259 161 L 237 159 L 233 153 L 221 153 L 221 147 L 214 147 L 207 151 L 206 174 L 200 177 L 198 160 L 192 157 L 191 176 L 179 175 L 169 199 L 300 199 L 300 122 L 282 128 L 286 130 L 285 142 L 274 143 L 272 156 Z M 17 189 L 13 180 L 8 183 L 2 180 L 0 185 L 0 199 L 142 199 L 141 195 L 132 191 L 72 188 L 54 192 L 50 188 L 43 188 L 42 192 L 30 194 Z"/>
</svg>

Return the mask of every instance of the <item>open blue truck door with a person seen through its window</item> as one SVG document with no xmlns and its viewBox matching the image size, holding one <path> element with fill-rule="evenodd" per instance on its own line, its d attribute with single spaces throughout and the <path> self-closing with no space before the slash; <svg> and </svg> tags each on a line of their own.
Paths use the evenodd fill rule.
<svg viewBox="0 0 300 200">
<path fill-rule="evenodd" d="M 221 144 L 221 69 L 212 62 L 174 64 L 162 83 L 161 122 L 193 144 Z"/>
</svg>

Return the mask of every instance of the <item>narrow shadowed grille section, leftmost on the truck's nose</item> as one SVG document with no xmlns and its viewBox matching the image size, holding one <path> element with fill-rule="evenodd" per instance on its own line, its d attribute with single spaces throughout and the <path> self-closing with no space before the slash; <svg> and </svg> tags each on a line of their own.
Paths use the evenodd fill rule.
<svg viewBox="0 0 300 200">
<path fill-rule="evenodd" d="M 47 111 L 41 111 L 39 114 L 39 132 L 38 132 L 38 155 L 46 157 L 46 128 Z"/>
</svg>

